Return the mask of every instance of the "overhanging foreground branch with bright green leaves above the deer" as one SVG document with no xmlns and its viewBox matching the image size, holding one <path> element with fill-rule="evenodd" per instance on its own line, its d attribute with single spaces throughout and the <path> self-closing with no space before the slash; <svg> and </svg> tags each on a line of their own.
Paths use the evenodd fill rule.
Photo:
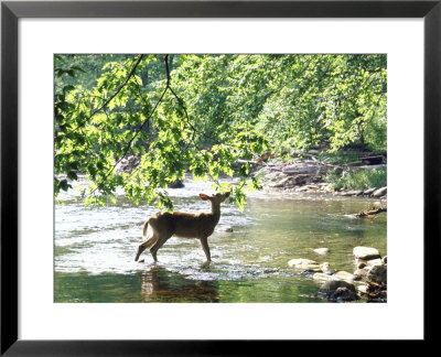
<svg viewBox="0 0 441 357">
<path fill-rule="evenodd" d="M 186 170 L 197 178 L 214 181 L 217 190 L 233 191 L 243 207 L 243 186 L 249 174 L 248 164 L 239 167 L 237 187 L 220 184 L 219 175 L 233 176 L 232 165 L 240 158 L 249 160 L 266 148 L 263 136 L 246 122 L 232 126 L 218 136 L 219 142 L 200 147 L 207 131 L 192 122 L 184 101 L 172 88 L 169 56 L 161 58 L 164 77 L 144 84 L 141 74 L 157 56 L 138 55 L 120 62 L 108 62 L 96 86 L 58 86 L 55 93 L 55 194 L 72 187 L 65 173 L 77 180 L 85 173 L 90 182 L 86 205 L 105 205 L 106 195 L 115 197 L 122 186 L 135 203 L 141 201 L 172 209 L 166 188 Z M 75 76 L 75 69 L 55 67 L 55 76 Z M 149 87 L 154 87 L 150 90 Z M 118 173 L 118 163 L 128 154 L 140 158 L 130 173 Z"/>
</svg>

